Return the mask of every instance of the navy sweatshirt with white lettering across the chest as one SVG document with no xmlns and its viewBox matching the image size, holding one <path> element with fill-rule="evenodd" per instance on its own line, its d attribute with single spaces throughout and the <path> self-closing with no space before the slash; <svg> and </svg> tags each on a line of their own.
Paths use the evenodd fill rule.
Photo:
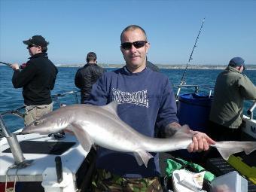
<svg viewBox="0 0 256 192">
<path fill-rule="evenodd" d="M 151 69 L 131 73 L 126 67 L 107 72 L 93 85 L 90 100 L 92 105 L 106 105 L 117 101 L 117 113 L 121 120 L 145 136 L 155 136 L 157 127 L 178 122 L 175 96 L 169 79 Z M 121 127 L 120 127 L 121 129 Z M 121 142 L 121 141 L 120 141 Z M 145 165 L 139 166 L 132 153 L 122 153 L 99 148 L 96 167 L 127 178 L 145 178 L 160 175 L 158 154 Z"/>
</svg>

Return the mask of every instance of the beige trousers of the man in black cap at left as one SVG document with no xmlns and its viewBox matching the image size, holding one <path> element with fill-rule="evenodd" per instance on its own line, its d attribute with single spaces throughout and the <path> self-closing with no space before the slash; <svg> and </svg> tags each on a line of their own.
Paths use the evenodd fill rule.
<svg viewBox="0 0 256 192">
<path fill-rule="evenodd" d="M 26 106 L 25 117 L 24 117 L 24 124 L 25 126 L 29 126 L 34 120 L 38 120 L 44 114 L 53 111 L 53 102 L 49 105 L 29 105 Z"/>
</svg>

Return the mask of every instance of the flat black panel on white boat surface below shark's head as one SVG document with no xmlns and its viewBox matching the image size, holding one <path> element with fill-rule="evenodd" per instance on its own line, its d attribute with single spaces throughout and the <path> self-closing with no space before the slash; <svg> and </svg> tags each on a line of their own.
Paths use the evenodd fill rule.
<svg viewBox="0 0 256 192">
<path fill-rule="evenodd" d="M 20 142 L 21 151 L 23 154 L 55 154 L 60 155 L 68 151 L 75 145 L 75 142 L 38 142 L 38 141 L 23 141 Z M 11 153 L 8 148 L 3 153 Z"/>
</svg>

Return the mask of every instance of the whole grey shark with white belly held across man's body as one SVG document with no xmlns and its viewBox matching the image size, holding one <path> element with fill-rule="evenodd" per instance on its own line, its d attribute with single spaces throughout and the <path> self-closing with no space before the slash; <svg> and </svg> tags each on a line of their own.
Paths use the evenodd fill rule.
<svg viewBox="0 0 256 192">
<path fill-rule="evenodd" d="M 26 126 L 22 133 L 50 134 L 62 130 L 75 134 L 84 151 L 99 145 L 113 151 L 133 152 L 140 166 L 148 165 L 151 152 L 166 152 L 187 149 L 192 142 L 192 133 L 187 125 L 170 138 L 160 139 L 142 135 L 118 117 L 117 102 L 96 106 L 87 104 L 68 105 L 45 114 Z M 256 150 L 256 142 L 216 142 L 212 145 L 227 160 L 231 154 Z"/>
</svg>

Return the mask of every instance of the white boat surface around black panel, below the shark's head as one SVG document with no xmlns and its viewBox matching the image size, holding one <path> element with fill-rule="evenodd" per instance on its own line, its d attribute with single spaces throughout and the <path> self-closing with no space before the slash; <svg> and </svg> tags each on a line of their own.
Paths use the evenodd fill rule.
<svg viewBox="0 0 256 192">
<path fill-rule="evenodd" d="M 62 167 L 69 169 L 73 174 L 73 180 L 76 181 L 75 173 L 83 163 L 86 152 L 77 142 L 75 136 L 66 133 L 66 138 L 56 140 L 53 137 L 39 134 L 18 135 L 17 139 L 21 141 L 41 141 L 41 142 L 76 142 L 72 148 L 60 155 L 62 159 Z M 8 181 L 14 181 L 17 175 L 17 181 L 43 181 L 43 172 L 49 167 L 55 167 L 55 157 L 58 155 L 52 154 L 23 154 L 26 160 L 34 160 L 32 164 L 23 169 L 8 169 L 14 164 L 14 157 L 11 153 L 3 153 L 9 148 L 7 140 L 0 140 L 0 182 L 5 182 L 6 175 Z"/>
</svg>

